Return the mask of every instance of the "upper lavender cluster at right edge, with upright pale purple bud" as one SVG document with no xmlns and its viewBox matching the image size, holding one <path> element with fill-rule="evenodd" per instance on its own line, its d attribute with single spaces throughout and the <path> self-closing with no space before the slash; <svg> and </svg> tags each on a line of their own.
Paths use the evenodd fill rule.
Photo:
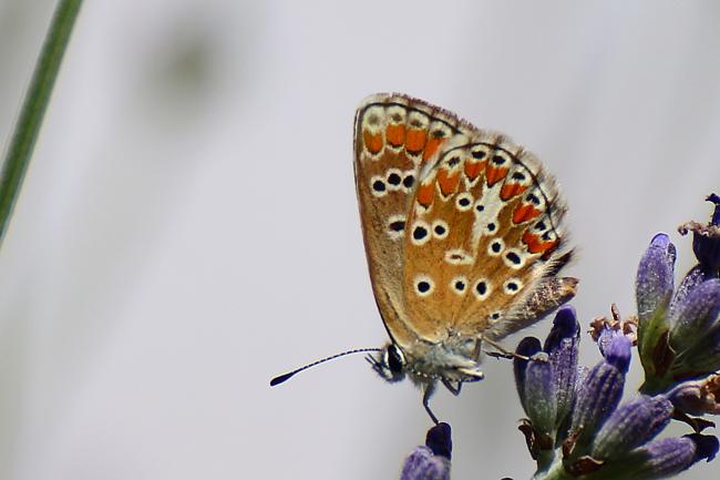
<svg viewBox="0 0 720 480">
<path fill-rule="evenodd" d="M 675 246 L 656 235 L 638 267 L 638 350 L 646 394 L 667 392 L 678 382 L 720 369 L 720 197 L 708 225 L 688 222 L 696 265 L 673 290 Z"/>
</svg>

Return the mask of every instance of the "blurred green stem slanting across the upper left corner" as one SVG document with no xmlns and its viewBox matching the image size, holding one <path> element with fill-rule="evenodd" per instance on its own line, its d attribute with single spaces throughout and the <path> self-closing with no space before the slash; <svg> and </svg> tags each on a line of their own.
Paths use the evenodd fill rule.
<svg viewBox="0 0 720 480">
<path fill-rule="evenodd" d="M 20 185 L 38 139 L 48 108 L 50 92 L 68 47 L 70 32 L 78 18 L 82 0 L 60 0 L 53 13 L 30 88 L 25 93 L 10 145 L 0 172 L 0 244 L 4 238 Z"/>
</svg>

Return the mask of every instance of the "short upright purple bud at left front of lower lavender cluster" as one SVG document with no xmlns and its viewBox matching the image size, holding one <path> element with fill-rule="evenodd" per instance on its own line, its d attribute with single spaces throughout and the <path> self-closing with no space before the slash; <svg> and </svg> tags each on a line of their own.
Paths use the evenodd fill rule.
<svg viewBox="0 0 720 480">
<path fill-rule="evenodd" d="M 547 354 L 539 351 L 525 371 L 525 412 L 536 432 L 552 436 L 556 411 L 553 367 Z"/>
</svg>

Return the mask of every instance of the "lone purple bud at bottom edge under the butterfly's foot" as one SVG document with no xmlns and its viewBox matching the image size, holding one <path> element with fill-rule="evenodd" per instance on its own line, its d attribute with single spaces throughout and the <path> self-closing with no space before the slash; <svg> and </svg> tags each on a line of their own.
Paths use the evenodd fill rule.
<svg viewBox="0 0 720 480">
<path fill-rule="evenodd" d="M 450 480 L 451 429 L 438 423 L 425 437 L 425 447 L 416 447 L 405 460 L 400 480 Z"/>
</svg>

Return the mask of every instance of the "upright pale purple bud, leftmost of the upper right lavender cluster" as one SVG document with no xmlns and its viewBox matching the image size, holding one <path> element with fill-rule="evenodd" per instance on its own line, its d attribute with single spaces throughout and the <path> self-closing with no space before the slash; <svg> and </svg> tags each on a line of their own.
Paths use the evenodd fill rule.
<svg viewBox="0 0 720 480">
<path fill-rule="evenodd" d="M 675 245 L 666 234 L 657 234 L 638 266 L 636 289 L 640 329 L 661 315 L 672 295 Z"/>
</svg>

